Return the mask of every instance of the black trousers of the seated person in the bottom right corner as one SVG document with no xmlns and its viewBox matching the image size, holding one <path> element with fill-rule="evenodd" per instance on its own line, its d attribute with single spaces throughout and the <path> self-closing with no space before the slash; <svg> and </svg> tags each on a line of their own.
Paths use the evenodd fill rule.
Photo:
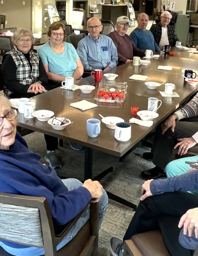
<svg viewBox="0 0 198 256">
<path fill-rule="evenodd" d="M 133 235 L 160 229 L 171 256 L 192 256 L 179 243 L 179 220 L 187 210 L 198 207 L 198 195 L 188 192 L 168 192 L 140 201 L 123 240 Z"/>
</svg>

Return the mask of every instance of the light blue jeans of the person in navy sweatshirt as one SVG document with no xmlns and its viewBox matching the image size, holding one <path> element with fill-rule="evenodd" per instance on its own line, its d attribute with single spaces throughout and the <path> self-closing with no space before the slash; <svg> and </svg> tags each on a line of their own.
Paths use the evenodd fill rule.
<svg viewBox="0 0 198 256">
<path fill-rule="evenodd" d="M 75 190 L 82 186 L 82 182 L 76 180 L 76 179 L 65 179 L 62 180 L 64 185 L 67 187 L 69 191 Z M 102 196 L 99 200 L 99 228 L 102 223 L 102 219 L 104 216 L 104 213 L 106 211 L 108 205 L 108 196 L 105 192 L 105 190 L 102 189 Z M 75 235 L 78 233 L 78 231 L 84 226 L 84 224 L 89 219 L 89 213 L 90 208 L 89 206 L 87 209 L 83 212 L 81 217 L 78 219 L 76 224 L 71 228 L 71 230 L 68 232 L 68 234 L 63 238 L 63 240 L 57 245 L 56 250 L 60 250 L 63 246 L 65 246 L 69 241 L 71 241 Z M 37 248 L 37 247 L 28 247 L 25 249 L 17 249 L 12 248 L 9 246 L 4 245 L 2 242 L 0 242 L 0 246 L 9 254 L 15 255 L 15 256 L 41 256 L 45 255 L 44 249 Z"/>
</svg>

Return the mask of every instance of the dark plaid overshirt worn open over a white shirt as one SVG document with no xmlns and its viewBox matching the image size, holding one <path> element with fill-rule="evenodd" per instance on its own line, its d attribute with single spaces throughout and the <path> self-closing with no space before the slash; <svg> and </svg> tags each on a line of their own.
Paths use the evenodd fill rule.
<svg viewBox="0 0 198 256">
<path fill-rule="evenodd" d="M 157 45 L 159 45 L 159 42 L 161 40 L 161 34 L 162 34 L 161 27 L 162 27 L 161 23 L 152 24 L 152 26 L 150 27 L 150 31 L 152 32 Z M 167 33 L 168 33 L 169 45 L 170 46 L 175 46 L 176 41 L 179 41 L 179 38 L 178 38 L 178 36 L 175 32 L 174 27 L 171 26 L 171 25 L 168 25 L 167 26 Z"/>
</svg>

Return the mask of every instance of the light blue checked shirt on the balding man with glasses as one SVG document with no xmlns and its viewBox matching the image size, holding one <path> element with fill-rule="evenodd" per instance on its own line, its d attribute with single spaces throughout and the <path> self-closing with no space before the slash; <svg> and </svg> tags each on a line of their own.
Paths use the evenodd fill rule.
<svg viewBox="0 0 198 256">
<path fill-rule="evenodd" d="M 105 35 L 99 35 L 97 40 L 86 36 L 78 43 L 77 53 L 85 70 L 112 68 L 118 64 L 117 49 Z"/>
</svg>

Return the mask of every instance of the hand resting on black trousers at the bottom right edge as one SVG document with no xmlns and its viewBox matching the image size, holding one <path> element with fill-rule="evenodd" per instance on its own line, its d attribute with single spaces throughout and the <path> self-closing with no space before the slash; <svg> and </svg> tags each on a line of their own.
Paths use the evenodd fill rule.
<svg viewBox="0 0 198 256">
<path fill-rule="evenodd" d="M 188 210 L 180 219 L 179 228 L 184 226 L 184 235 L 192 236 L 195 228 L 195 236 L 198 238 L 198 208 Z"/>
</svg>

